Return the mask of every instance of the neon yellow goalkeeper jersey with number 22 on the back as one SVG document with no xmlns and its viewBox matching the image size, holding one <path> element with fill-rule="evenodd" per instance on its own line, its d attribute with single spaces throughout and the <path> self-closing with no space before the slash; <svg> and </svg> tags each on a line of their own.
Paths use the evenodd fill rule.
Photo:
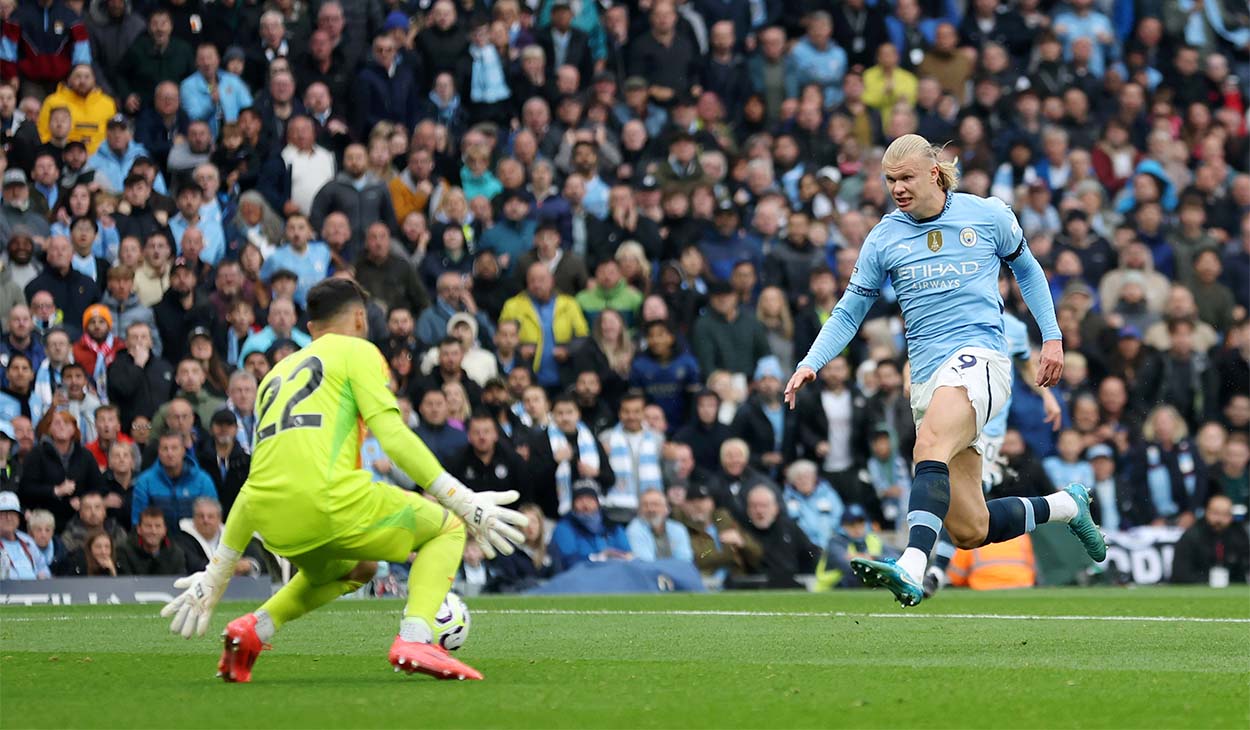
<svg viewBox="0 0 1250 730">
<path fill-rule="evenodd" d="M 251 526 L 271 550 L 304 552 L 376 519 L 379 488 L 360 466 L 360 442 L 366 421 L 386 411 L 398 418 L 389 379 L 371 342 L 328 334 L 260 382 L 244 494 Z M 441 470 L 424 445 L 419 451 L 402 456 Z"/>
</svg>

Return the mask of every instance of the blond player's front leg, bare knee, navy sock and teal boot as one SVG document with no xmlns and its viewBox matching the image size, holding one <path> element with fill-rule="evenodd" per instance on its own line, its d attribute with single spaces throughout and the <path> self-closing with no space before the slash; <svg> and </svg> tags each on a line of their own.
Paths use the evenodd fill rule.
<svg viewBox="0 0 1250 730">
<path fill-rule="evenodd" d="M 938 388 L 916 430 L 916 466 L 908 500 L 908 548 L 896 562 L 852 560 L 851 568 L 865 585 L 890 589 L 904 606 L 914 606 L 924 598 L 929 554 L 951 506 L 949 464 L 975 436 L 976 411 L 966 390 L 949 385 Z"/>
</svg>

